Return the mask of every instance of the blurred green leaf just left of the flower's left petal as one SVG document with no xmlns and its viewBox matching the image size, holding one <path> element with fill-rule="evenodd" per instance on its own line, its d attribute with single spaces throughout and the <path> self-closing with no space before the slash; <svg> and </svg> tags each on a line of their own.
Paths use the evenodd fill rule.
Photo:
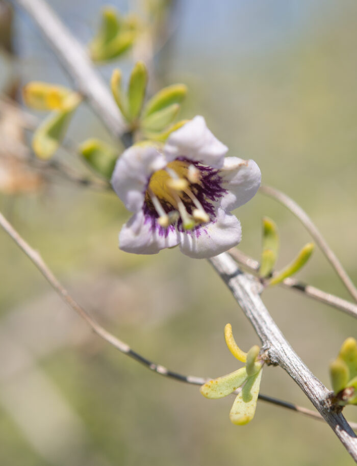
<svg viewBox="0 0 357 466">
<path fill-rule="evenodd" d="M 79 152 L 91 168 L 110 179 L 118 159 L 118 152 L 98 139 L 88 139 L 79 147 Z"/>
</svg>

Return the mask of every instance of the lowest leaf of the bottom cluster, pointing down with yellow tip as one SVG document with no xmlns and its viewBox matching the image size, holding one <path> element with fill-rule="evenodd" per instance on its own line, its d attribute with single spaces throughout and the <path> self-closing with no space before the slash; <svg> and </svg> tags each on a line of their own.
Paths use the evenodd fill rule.
<svg viewBox="0 0 357 466">
<path fill-rule="evenodd" d="M 243 390 L 237 395 L 230 412 L 230 419 L 233 424 L 242 426 L 253 419 L 257 407 L 262 372 L 259 371 L 249 377 Z"/>
</svg>

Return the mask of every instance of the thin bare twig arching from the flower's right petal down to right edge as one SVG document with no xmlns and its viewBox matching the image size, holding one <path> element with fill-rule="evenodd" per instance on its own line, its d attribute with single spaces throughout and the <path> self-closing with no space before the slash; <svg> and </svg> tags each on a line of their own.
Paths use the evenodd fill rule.
<svg viewBox="0 0 357 466">
<path fill-rule="evenodd" d="M 285 205 L 287 209 L 290 210 L 304 225 L 304 227 L 309 231 L 310 235 L 316 241 L 316 244 L 320 247 L 321 251 L 327 257 L 329 263 L 334 267 L 337 274 L 341 278 L 343 284 L 349 291 L 350 295 L 355 301 L 357 301 L 357 288 L 354 286 L 352 280 L 348 276 L 347 272 L 343 268 L 341 262 L 338 260 L 334 251 L 328 246 L 326 240 L 321 235 L 320 231 L 316 228 L 315 224 L 312 222 L 308 214 L 301 209 L 301 207 L 293 201 L 289 196 L 278 191 L 271 186 L 261 186 L 260 192 L 266 194 L 267 196 L 272 197 L 281 204 Z"/>
</svg>

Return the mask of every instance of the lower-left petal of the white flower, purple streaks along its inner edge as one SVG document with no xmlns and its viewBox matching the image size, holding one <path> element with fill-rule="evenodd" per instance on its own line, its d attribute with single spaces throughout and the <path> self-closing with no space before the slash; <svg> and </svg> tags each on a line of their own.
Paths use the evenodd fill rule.
<svg viewBox="0 0 357 466">
<path fill-rule="evenodd" d="M 143 212 L 133 215 L 119 233 L 119 248 L 135 254 L 157 254 L 161 249 L 176 246 L 179 241 L 173 226 L 162 228 Z"/>
</svg>

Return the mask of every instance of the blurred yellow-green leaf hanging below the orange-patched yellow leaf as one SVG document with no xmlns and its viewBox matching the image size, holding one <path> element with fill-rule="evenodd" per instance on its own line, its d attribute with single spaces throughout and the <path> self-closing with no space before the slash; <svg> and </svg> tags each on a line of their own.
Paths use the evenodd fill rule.
<svg viewBox="0 0 357 466">
<path fill-rule="evenodd" d="M 70 94 L 66 99 L 64 110 L 54 110 L 40 124 L 32 139 L 32 148 L 40 159 L 49 159 L 58 149 L 63 139 L 74 110 L 81 98 L 78 94 Z"/>
</svg>

